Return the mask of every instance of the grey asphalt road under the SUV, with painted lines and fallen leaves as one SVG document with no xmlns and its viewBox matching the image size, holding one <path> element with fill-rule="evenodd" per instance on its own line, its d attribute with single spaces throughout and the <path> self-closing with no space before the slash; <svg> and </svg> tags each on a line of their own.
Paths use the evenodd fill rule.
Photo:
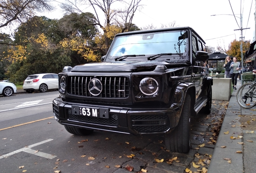
<svg viewBox="0 0 256 173">
<path fill-rule="evenodd" d="M 181 154 L 166 151 L 163 137 L 103 131 L 83 137 L 72 135 L 52 117 L 52 100 L 56 97 L 58 91 L 0 97 L 1 173 L 125 173 L 127 165 L 133 167 L 133 172 L 143 168 L 148 173 L 181 173 L 198 161 L 196 153 L 202 158 L 207 157 L 206 152 L 211 155 L 214 145 L 207 147 L 211 126 L 202 124 L 211 124 L 213 119 L 216 122 L 216 116 L 225 110 L 219 102 L 212 118 L 203 115 L 192 119 L 192 149 Z M 204 149 L 195 149 L 202 143 L 206 143 Z M 176 156 L 179 162 L 166 163 Z M 156 158 L 165 161 L 157 163 Z"/>
</svg>

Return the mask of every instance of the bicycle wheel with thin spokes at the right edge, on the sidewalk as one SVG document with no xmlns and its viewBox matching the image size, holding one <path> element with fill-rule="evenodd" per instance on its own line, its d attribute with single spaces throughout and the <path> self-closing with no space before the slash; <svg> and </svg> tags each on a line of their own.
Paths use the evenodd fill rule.
<svg viewBox="0 0 256 173">
<path fill-rule="evenodd" d="M 254 83 L 243 84 L 237 91 L 237 103 L 245 109 L 252 108 L 256 105 L 256 86 Z"/>
</svg>

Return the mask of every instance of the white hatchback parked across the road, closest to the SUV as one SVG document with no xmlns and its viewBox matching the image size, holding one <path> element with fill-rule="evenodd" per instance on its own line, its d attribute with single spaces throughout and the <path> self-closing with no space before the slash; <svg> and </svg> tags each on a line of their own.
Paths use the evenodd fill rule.
<svg viewBox="0 0 256 173">
<path fill-rule="evenodd" d="M 58 89 L 58 74 L 33 74 L 27 76 L 23 82 L 23 90 L 27 93 L 33 93 L 35 90 L 39 90 L 42 93 L 48 89 Z"/>
</svg>

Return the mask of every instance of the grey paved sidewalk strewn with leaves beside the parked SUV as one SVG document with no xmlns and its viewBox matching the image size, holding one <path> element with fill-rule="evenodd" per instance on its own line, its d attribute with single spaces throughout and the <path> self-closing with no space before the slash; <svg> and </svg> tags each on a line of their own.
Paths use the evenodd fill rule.
<svg viewBox="0 0 256 173">
<path fill-rule="evenodd" d="M 252 173 L 256 170 L 256 128 L 253 129 L 255 133 L 251 129 L 243 130 L 239 122 L 241 116 L 256 119 L 256 108 L 244 109 L 237 103 L 236 94 L 241 85 L 241 80 L 237 80 L 237 90 L 233 90 L 229 100 L 207 173 Z M 231 127 L 234 125 L 235 127 Z M 243 137 L 231 139 L 231 136 Z M 242 142 L 244 144 L 241 144 Z M 242 151 L 242 153 L 237 153 L 237 151 Z M 231 163 L 224 158 L 231 159 Z"/>
</svg>

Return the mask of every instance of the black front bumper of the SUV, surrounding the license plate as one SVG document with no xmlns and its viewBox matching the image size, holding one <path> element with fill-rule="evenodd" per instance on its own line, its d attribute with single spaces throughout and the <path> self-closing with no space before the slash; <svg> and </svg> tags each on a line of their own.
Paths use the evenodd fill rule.
<svg viewBox="0 0 256 173">
<path fill-rule="evenodd" d="M 101 112 L 107 110 L 108 113 L 106 117 L 100 113 L 101 118 L 81 116 L 74 113 L 76 107 L 94 107 Z M 169 133 L 178 125 L 180 112 L 181 105 L 178 104 L 173 104 L 168 109 L 134 109 L 70 104 L 62 101 L 61 97 L 53 101 L 54 118 L 62 125 L 132 135 Z"/>
</svg>

